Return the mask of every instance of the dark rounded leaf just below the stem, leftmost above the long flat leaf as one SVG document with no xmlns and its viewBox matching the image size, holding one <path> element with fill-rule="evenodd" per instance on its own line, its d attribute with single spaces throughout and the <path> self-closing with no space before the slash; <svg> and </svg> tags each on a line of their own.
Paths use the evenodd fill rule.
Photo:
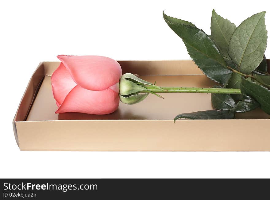
<svg viewBox="0 0 270 200">
<path fill-rule="evenodd" d="M 218 86 L 216 86 L 218 87 Z M 219 88 L 222 88 L 219 86 Z M 212 106 L 215 110 L 231 110 L 235 101 L 230 94 L 211 94 Z"/>
</svg>

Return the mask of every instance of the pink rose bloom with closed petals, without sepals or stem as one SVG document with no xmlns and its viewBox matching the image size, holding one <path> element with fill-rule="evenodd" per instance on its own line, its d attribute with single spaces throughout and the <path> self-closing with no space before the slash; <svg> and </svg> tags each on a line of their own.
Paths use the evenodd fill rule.
<svg viewBox="0 0 270 200">
<path fill-rule="evenodd" d="M 61 63 L 53 72 L 55 113 L 109 114 L 119 106 L 119 63 L 103 56 L 57 56 Z"/>
</svg>

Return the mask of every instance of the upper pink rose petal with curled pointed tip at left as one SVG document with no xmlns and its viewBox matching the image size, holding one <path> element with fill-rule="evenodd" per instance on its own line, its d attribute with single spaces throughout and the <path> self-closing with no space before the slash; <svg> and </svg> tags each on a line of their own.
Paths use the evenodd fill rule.
<svg viewBox="0 0 270 200">
<path fill-rule="evenodd" d="M 105 90 L 119 82 L 122 69 L 119 63 L 104 56 L 57 56 L 73 80 L 87 90 Z"/>
</svg>

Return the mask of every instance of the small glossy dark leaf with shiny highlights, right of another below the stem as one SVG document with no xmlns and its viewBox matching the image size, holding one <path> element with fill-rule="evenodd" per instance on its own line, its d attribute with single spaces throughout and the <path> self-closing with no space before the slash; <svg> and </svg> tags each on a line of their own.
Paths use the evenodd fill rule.
<svg viewBox="0 0 270 200">
<path fill-rule="evenodd" d="M 238 102 L 236 106 L 231 110 L 237 113 L 245 113 L 250 110 L 254 110 L 258 108 L 259 106 L 260 104 L 257 101 L 255 101 L 255 99 L 249 96 L 243 95 L 243 100 Z"/>
</svg>

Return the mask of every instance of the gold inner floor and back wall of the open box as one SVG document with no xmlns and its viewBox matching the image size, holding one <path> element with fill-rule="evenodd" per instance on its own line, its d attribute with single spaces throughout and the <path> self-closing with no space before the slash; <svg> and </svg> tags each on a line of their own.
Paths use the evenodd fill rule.
<svg viewBox="0 0 270 200">
<path fill-rule="evenodd" d="M 171 61 L 119 61 L 123 74 L 138 74 L 141 79 L 160 87 L 213 87 L 217 85 L 207 78 L 191 60 Z M 108 115 L 85 113 L 61 113 L 57 110 L 52 96 L 51 75 L 59 62 L 44 62 L 44 80 L 36 95 L 26 121 L 48 120 L 172 120 L 179 113 L 200 110 L 213 110 L 211 94 L 160 93 L 164 99 L 155 95 L 142 102 L 126 105 L 120 102 L 118 110 Z M 237 119 L 269 119 L 260 109 L 237 113 Z"/>
</svg>

